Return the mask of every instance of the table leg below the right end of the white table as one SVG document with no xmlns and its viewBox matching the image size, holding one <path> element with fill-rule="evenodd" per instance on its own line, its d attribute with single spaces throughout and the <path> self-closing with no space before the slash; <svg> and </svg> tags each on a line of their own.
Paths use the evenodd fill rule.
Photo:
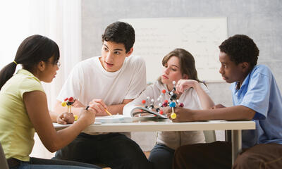
<svg viewBox="0 0 282 169">
<path fill-rule="evenodd" d="M 234 164 L 238 154 L 242 151 L 242 130 L 232 130 L 232 165 Z"/>
</svg>

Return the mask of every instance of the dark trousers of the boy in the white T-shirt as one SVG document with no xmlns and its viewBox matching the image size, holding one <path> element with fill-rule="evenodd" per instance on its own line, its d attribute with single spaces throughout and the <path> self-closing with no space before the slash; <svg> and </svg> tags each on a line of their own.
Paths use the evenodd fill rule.
<svg viewBox="0 0 282 169">
<path fill-rule="evenodd" d="M 57 151 L 54 158 L 83 163 L 103 163 L 113 169 L 153 167 L 140 146 L 120 133 L 99 135 L 80 133 L 71 144 Z"/>
</svg>

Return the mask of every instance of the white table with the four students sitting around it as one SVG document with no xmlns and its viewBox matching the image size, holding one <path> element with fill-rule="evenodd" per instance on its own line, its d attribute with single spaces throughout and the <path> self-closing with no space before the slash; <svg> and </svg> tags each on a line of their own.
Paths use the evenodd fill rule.
<svg viewBox="0 0 282 169">
<path fill-rule="evenodd" d="M 68 125 L 54 123 L 56 130 Z M 87 127 L 85 132 L 157 132 L 157 131 L 195 131 L 195 130 L 231 130 L 232 163 L 242 149 L 241 130 L 255 130 L 253 121 L 210 120 L 204 122 L 172 123 L 170 120 L 138 121 L 133 123 L 102 123 Z"/>
</svg>

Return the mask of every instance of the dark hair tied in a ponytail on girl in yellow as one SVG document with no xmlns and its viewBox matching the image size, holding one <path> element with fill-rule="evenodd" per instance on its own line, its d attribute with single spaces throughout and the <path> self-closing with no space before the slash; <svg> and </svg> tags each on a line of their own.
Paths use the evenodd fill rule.
<svg viewBox="0 0 282 169">
<path fill-rule="evenodd" d="M 54 56 L 54 63 L 59 61 L 59 46 L 53 40 L 42 35 L 32 35 L 23 40 L 13 62 L 0 71 L 0 90 L 15 73 L 16 65 L 22 64 L 25 70 L 32 72 L 40 61 L 48 61 Z"/>
</svg>

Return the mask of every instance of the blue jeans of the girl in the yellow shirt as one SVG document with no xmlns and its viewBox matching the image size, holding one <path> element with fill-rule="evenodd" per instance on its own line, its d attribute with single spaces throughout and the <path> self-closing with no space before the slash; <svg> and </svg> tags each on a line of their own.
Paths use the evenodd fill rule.
<svg viewBox="0 0 282 169">
<path fill-rule="evenodd" d="M 20 165 L 10 169 L 101 169 L 97 165 L 78 163 L 74 161 L 49 160 L 31 157 L 30 161 L 21 161 Z"/>
</svg>

